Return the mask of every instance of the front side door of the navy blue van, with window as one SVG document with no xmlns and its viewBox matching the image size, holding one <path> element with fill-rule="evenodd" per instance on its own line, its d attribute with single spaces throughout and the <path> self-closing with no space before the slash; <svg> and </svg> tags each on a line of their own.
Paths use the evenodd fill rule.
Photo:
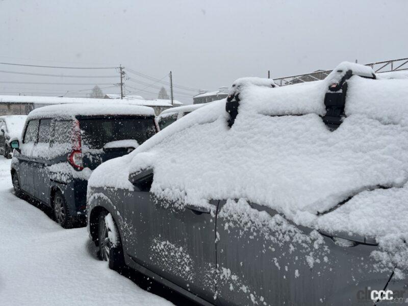
<svg viewBox="0 0 408 306">
<path fill-rule="evenodd" d="M 21 189 L 34 196 L 35 184 L 33 177 L 33 150 L 38 138 L 39 120 L 30 120 L 25 126 L 23 141 L 20 146 L 19 180 Z"/>
</svg>

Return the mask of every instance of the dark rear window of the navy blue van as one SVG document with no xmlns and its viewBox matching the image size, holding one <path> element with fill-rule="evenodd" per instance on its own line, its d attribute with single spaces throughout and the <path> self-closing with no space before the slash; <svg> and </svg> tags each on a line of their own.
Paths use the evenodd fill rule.
<svg viewBox="0 0 408 306">
<path fill-rule="evenodd" d="M 109 117 L 80 119 L 83 145 L 100 149 L 117 140 L 136 140 L 142 144 L 156 134 L 152 117 Z"/>
</svg>

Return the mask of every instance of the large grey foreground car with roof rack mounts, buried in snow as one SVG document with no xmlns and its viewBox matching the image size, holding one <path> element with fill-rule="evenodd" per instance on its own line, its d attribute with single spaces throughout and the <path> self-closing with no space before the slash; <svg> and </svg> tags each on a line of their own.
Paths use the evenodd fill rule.
<svg viewBox="0 0 408 306">
<path fill-rule="evenodd" d="M 407 181 L 408 81 L 345 62 L 244 82 L 100 165 L 88 231 L 111 268 L 205 305 L 386 304 L 406 297 Z"/>
</svg>

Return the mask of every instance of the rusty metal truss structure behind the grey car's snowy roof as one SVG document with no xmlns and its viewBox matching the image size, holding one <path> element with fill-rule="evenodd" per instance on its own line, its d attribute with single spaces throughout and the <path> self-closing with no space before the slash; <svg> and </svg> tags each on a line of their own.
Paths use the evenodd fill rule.
<svg viewBox="0 0 408 306">
<path fill-rule="evenodd" d="M 382 61 L 365 64 L 370 66 L 375 73 L 408 70 L 408 58 Z M 290 75 L 289 77 L 273 79 L 279 86 L 292 85 L 304 82 L 319 81 L 327 77 L 332 70 L 317 70 L 311 73 Z"/>
</svg>

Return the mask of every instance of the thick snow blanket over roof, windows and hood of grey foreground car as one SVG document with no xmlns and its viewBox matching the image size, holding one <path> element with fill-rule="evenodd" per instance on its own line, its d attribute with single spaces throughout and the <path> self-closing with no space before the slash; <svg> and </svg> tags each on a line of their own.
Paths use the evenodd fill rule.
<svg viewBox="0 0 408 306">
<path fill-rule="evenodd" d="M 351 66 L 358 70 L 341 68 Z M 351 77 L 347 117 L 330 132 L 321 116 L 337 70 L 308 84 L 249 84 L 231 129 L 225 99 L 215 101 L 100 165 L 89 186 L 132 190 L 129 174 L 153 168 L 150 192 L 181 206 L 243 198 L 296 224 L 374 236 L 385 248 L 390 239 L 401 243 L 408 237 L 408 80 Z M 407 260 L 398 264 L 408 269 Z"/>
</svg>

